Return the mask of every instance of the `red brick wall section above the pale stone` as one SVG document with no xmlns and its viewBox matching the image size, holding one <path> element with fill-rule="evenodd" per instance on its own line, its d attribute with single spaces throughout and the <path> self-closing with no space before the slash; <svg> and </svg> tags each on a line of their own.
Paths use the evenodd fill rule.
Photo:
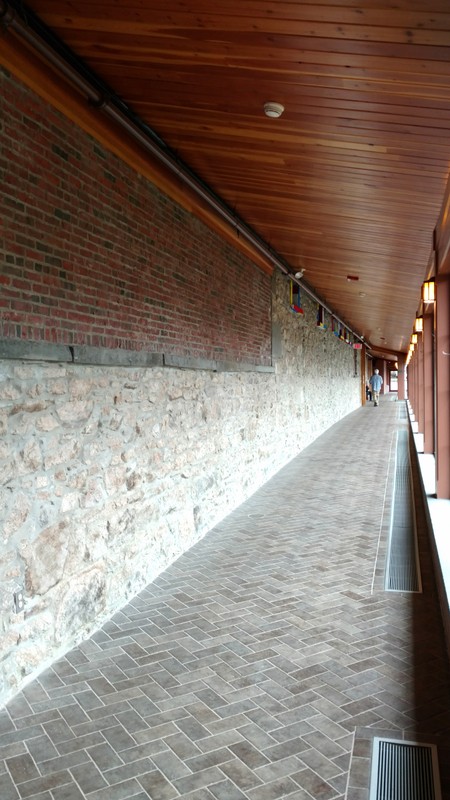
<svg viewBox="0 0 450 800">
<path fill-rule="evenodd" d="M 270 364 L 270 278 L 0 69 L 0 337 Z"/>
</svg>

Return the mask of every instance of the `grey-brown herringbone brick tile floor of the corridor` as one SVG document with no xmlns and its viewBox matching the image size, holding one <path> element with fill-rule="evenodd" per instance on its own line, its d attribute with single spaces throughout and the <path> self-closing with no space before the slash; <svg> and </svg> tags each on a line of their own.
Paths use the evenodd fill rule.
<svg viewBox="0 0 450 800">
<path fill-rule="evenodd" d="M 0 711 L 1 800 L 368 800 L 379 735 L 437 743 L 449 798 L 420 503 L 424 592 L 383 589 L 402 426 L 350 414 Z"/>
</svg>

